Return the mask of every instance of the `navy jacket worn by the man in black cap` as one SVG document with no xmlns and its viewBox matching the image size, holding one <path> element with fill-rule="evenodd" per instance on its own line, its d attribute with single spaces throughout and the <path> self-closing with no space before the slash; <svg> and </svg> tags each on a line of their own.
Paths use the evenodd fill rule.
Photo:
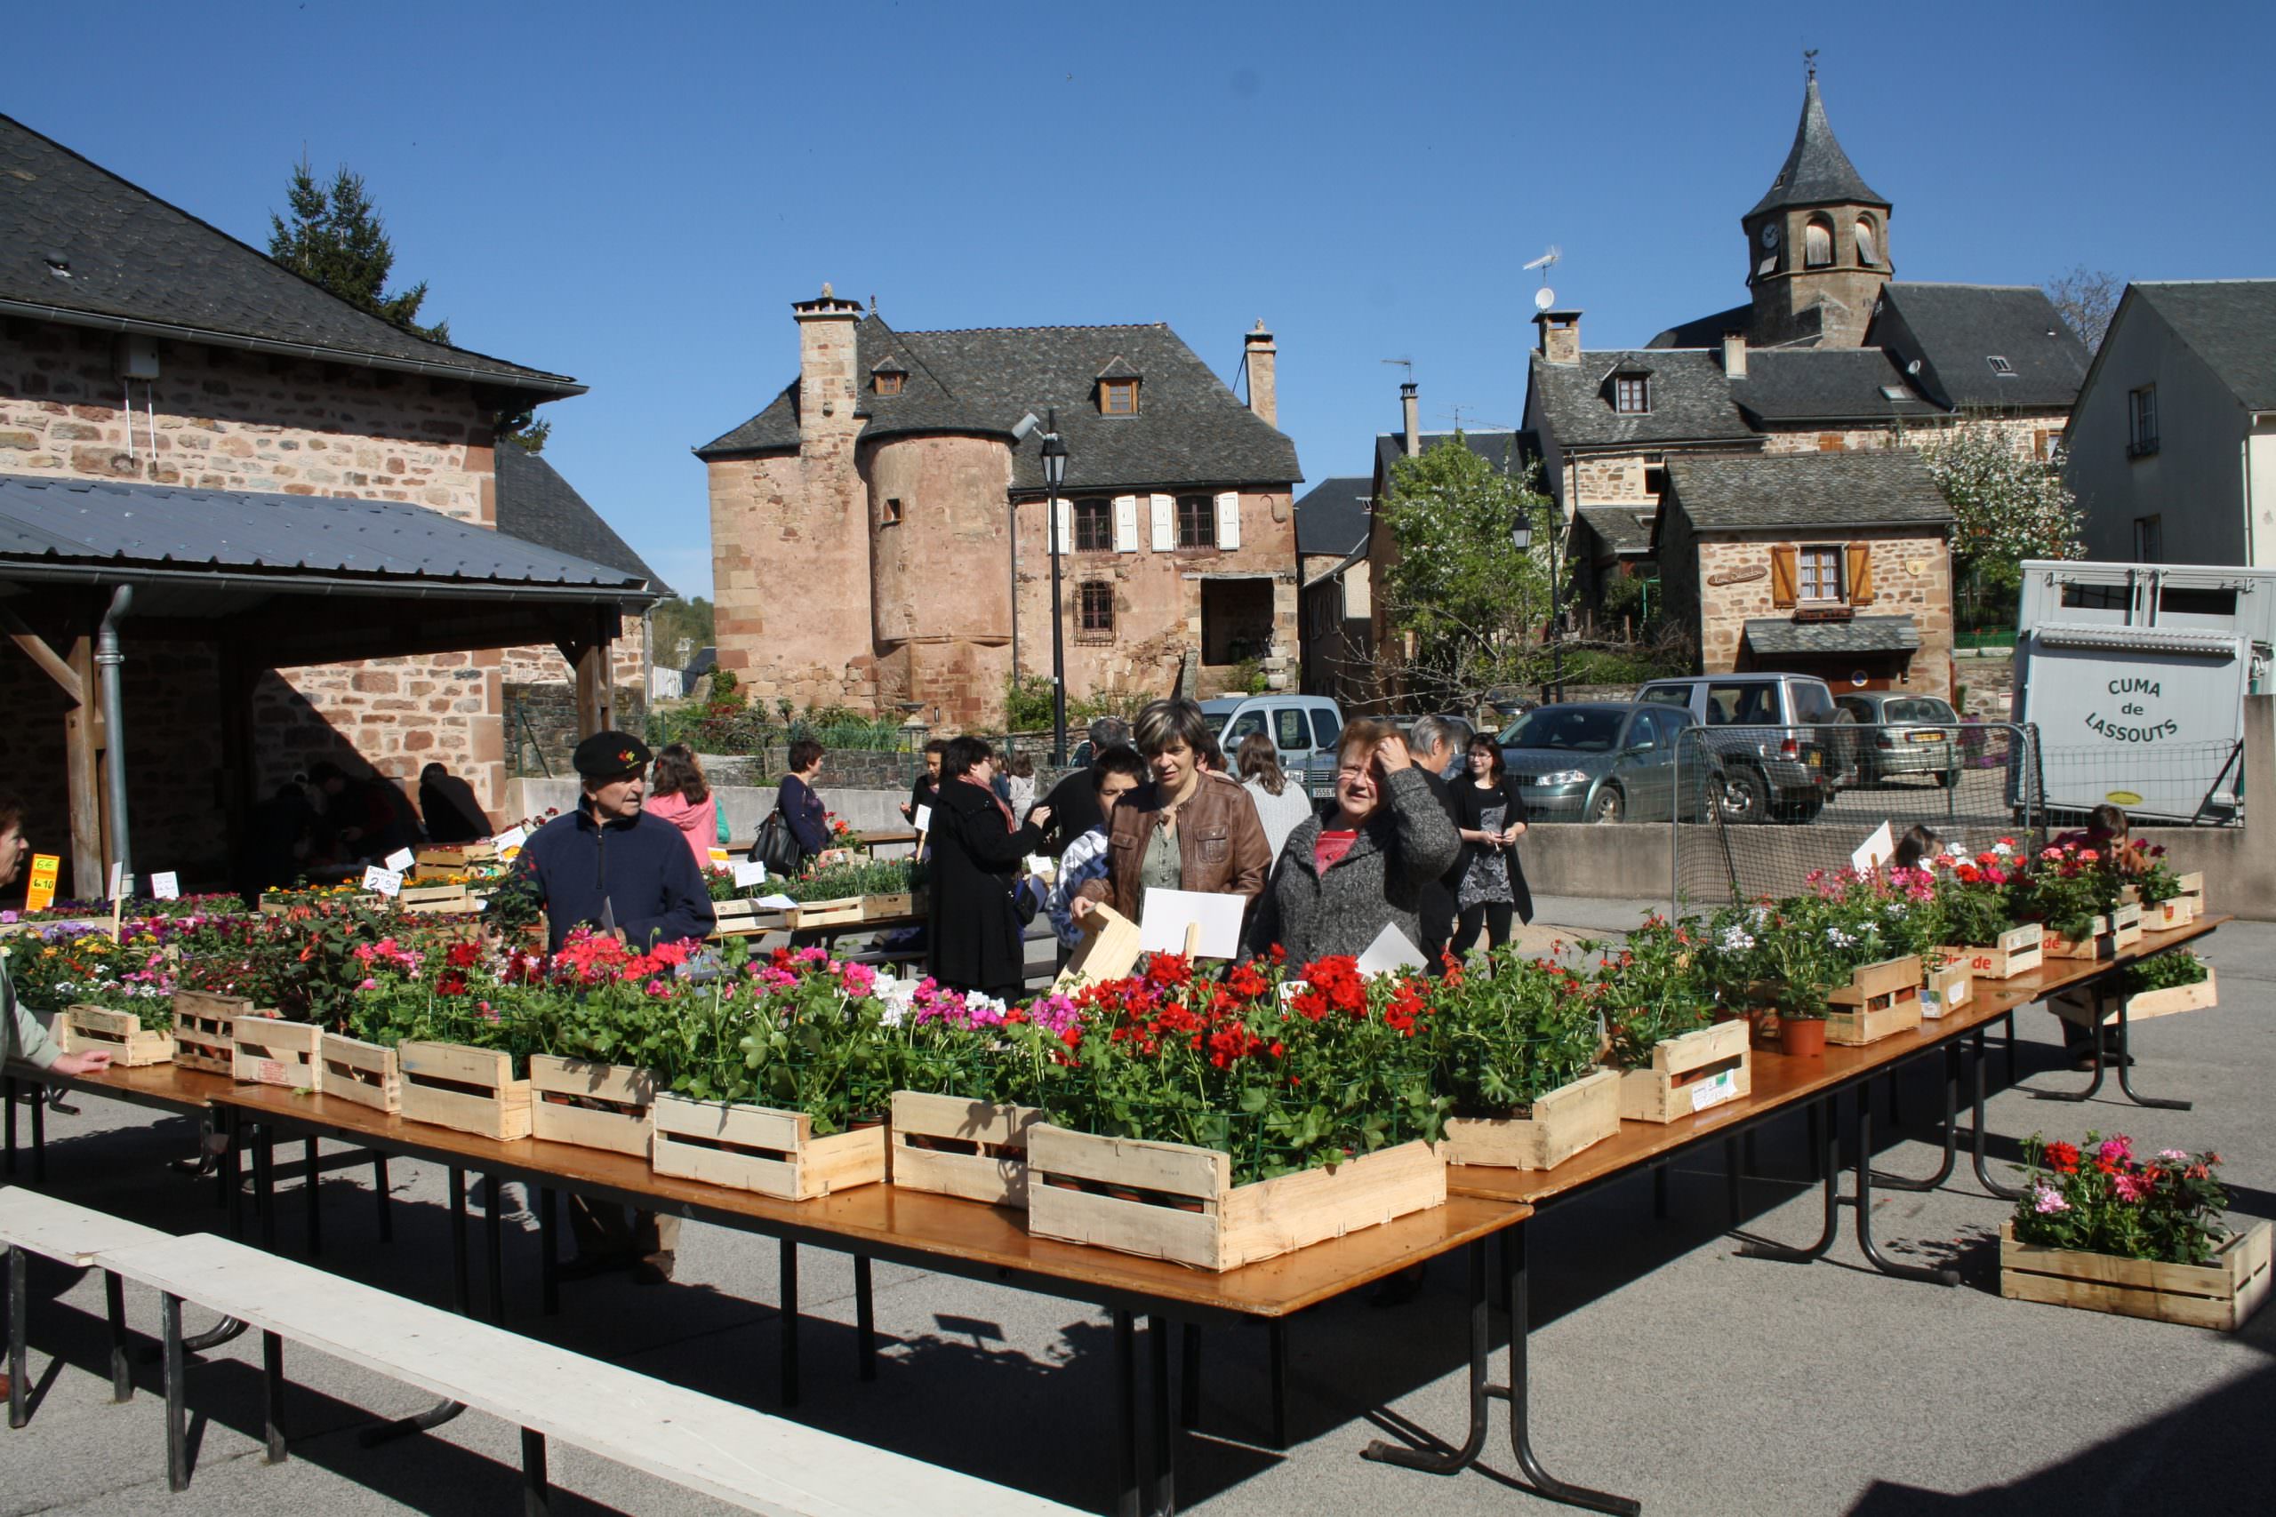
<svg viewBox="0 0 2276 1517">
<path fill-rule="evenodd" d="M 683 937 L 710 937 L 710 892 L 687 839 L 662 816 L 596 823 L 583 803 L 555 816 L 521 846 L 519 867 L 546 901 L 549 948 L 569 928 L 601 926 L 603 903 L 617 914 L 624 939 L 653 948 Z"/>
</svg>

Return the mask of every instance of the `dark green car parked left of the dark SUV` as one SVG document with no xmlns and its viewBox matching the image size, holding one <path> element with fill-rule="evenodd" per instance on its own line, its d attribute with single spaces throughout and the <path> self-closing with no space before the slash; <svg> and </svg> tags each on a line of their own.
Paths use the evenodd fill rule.
<svg viewBox="0 0 2276 1517">
<path fill-rule="evenodd" d="M 1668 821 L 1677 810 L 1675 744 L 1693 726 L 1677 705 L 1564 701 L 1539 705 L 1502 735 L 1502 764 L 1532 821 Z M 1684 821 L 1702 821 L 1721 798 L 1714 778 L 1684 789 Z"/>
</svg>

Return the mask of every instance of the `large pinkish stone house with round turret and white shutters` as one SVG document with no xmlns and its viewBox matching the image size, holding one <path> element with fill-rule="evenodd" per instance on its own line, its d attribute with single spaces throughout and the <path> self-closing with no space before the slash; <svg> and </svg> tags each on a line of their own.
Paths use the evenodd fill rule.
<svg viewBox="0 0 2276 1517">
<path fill-rule="evenodd" d="M 1243 405 L 1161 323 L 897 332 L 828 287 L 792 316 L 799 378 L 696 448 L 719 666 L 753 701 L 992 726 L 1015 671 L 1049 675 L 1054 416 L 1067 696 L 1295 689 L 1302 475 L 1263 323 Z"/>
</svg>

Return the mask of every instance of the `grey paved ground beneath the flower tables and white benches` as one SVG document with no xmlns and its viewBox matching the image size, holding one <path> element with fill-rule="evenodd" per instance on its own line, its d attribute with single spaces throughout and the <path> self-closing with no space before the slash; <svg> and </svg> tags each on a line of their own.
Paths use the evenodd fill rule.
<svg viewBox="0 0 2276 1517">
<path fill-rule="evenodd" d="M 1641 907 L 1545 901 L 1543 919 L 1605 930 Z M 2276 1217 L 2276 1142 L 2260 1126 L 2276 1080 L 2276 926 L 2233 923 L 2208 953 L 2224 1005 L 2139 1035 L 2139 1085 L 2196 1101 L 2151 1112 L 2098 1101 L 2039 1103 L 2030 1087 L 2069 1087 L 2055 1021 L 2021 1017 L 2023 1089 L 1991 1103 L 1994 1155 L 2012 1160 L 2032 1130 L 2087 1126 L 2149 1146 L 2219 1149 L 2240 1224 Z M 1905 1137 L 1885 1167 L 1925 1174 L 1935 1083 L 1903 1087 Z M 1887 1112 L 1887 1092 L 1878 1094 Z M 50 1126 L 50 1183 L 64 1196 L 178 1230 L 214 1228 L 212 1187 L 166 1169 L 189 1153 L 187 1121 L 86 1101 Z M 1798 1176 L 1800 1126 L 1764 1133 L 1762 1167 Z M 1964 1164 L 1962 1164 L 1964 1171 Z M 448 1292 L 442 1174 L 396 1167 L 396 1242 L 373 1240 L 369 1192 L 323 1187 L 323 1265 L 428 1301 Z M 1796 1178 L 1748 1183 L 1746 1233 L 1807 1240 L 1816 1194 Z M 1632 1180 L 1543 1217 L 1534 1255 L 1534 1433 L 1555 1474 L 1641 1497 L 1648 1512 L 1759 1517 L 1994 1517 L 2005 1512 L 2249 1512 L 2276 1490 L 2276 1310 L 2237 1335 L 2001 1301 L 1996 1244 L 2005 1208 L 1971 1185 L 1882 1194 L 1875 1228 L 1910 1258 L 1955 1260 L 1960 1290 L 1910 1285 L 1859 1267 L 1844 1237 L 1830 1262 L 1793 1267 L 1734 1255 L 1718 1160 L 1677 1176 L 1666 1221 Z M 282 1221 L 296 1237 L 298 1199 Z M 1905 1242 L 1914 1240 L 1914 1242 Z M 564 1285 L 555 1319 L 535 1312 L 533 1237 L 512 1235 L 512 1324 L 587 1353 L 774 1408 L 776 1249 L 690 1226 L 681 1283 Z M 888 1340 L 876 1385 L 853 1378 L 851 1269 L 803 1255 L 806 1403 L 801 1419 L 920 1458 L 1102 1510 L 1108 1499 L 1111 1344 L 1104 1317 L 899 1269 L 879 1269 Z M 1206 1433 L 1179 1444 L 1190 1510 L 1250 1512 L 1548 1512 L 1489 1474 L 1452 1481 L 1359 1458 L 1377 1421 L 1402 1417 L 1459 1433 L 1461 1301 L 1454 1269 L 1429 1292 L 1377 1310 L 1331 1303 L 1293 1326 L 1293 1437 L 1263 1435 L 1263 1340 L 1209 1340 Z M 157 1303 L 130 1296 L 155 1326 Z M 294 1458 L 259 1460 L 259 1374 L 250 1342 L 216 1351 L 191 1378 L 198 1474 L 164 1487 L 162 1403 L 112 1406 L 102 1365 L 100 1276 L 32 1271 L 30 1428 L 0 1435 L 0 1512 L 157 1510 L 496 1512 L 514 1499 L 512 1428 L 464 1417 L 439 1435 L 364 1451 L 355 1428 L 414 1410 L 419 1394 L 319 1360 L 287 1358 Z M 57 1358 L 59 1356 L 59 1358 Z M 157 1390 L 155 1369 L 141 1376 Z M 1489 1465 L 1514 1469 L 1500 1408 Z M 710 1503 L 555 1451 L 555 1510 L 699 1512 Z M 574 1492 L 574 1494 L 569 1494 Z M 2258 1492 L 2258 1494 L 2256 1494 Z"/>
</svg>

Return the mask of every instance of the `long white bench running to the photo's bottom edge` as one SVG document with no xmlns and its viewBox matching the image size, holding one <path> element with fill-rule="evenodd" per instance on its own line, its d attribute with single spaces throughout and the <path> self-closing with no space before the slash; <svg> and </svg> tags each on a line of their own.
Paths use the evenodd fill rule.
<svg viewBox="0 0 2276 1517">
<path fill-rule="evenodd" d="M 1074 1508 L 858 1444 L 505 1328 L 344 1280 L 209 1233 L 98 1260 L 159 1292 L 166 1342 L 166 1476 L 189 1485 L 182 1303 L 262 1331 L 269 1458 L 284 1458 L 291 1340 L 521 1428 L 523 1510 L 546 1508 L 546 1440 L 778 1517 L 1067 1517 Z"/>
</svg>

